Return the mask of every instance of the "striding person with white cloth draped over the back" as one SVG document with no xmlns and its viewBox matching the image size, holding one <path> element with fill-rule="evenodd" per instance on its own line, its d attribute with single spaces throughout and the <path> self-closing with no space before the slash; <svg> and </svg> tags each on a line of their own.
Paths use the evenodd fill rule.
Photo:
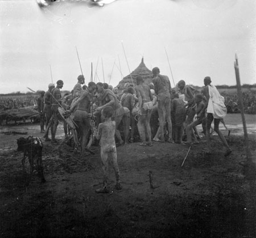
<svg viewBox="0 0 256 238">
<path fill-rule="evenodd" d="M 229 147 L 228 142 L 226 142 L 224 135 L 218 128 L 220 120 L 226 116 L 227 110 L 224 104 L 224 98 L 220 95 L 217 88 L 210 84 L 211 82 L 212 80 L 210 80 L 210 77 L 206 76 L 204 78 L 205 87 L 202 90 L 203 95 L 206 97 L 204 109 L 207 109 L 207 124 L 205 133 L 207 138 L 207 149 L 204 151 L 210 153 L 210 125 L 212 125 L 212 121 L 214 121 L 214 131 L 216 131 L 218 137 L 220 137 L 222 143 L 226 147 L 225 156 L 228 156 L 231 154 L 232 150 Z M 199 113 L 197 116 L 201 117 L 202 113 Z"/>
</svg>

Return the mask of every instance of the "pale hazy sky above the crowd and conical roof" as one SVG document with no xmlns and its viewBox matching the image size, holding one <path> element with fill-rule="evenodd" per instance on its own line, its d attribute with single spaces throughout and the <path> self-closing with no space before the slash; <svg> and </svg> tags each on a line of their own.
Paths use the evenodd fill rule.
<svg viewBox="0 0 256 238">
<path fill-rule="evenodd" d="M 0 0 L 0 93 L 47 90 L 64 81 L 71 90 L 81 74 L 117 86 L 144 57 L 174 81 L 235 85 L 234 57 L 241 83 L 256 83 L 255 0 L 117 0 L 104 7 L 60 1 L 40 8 L 35 0 Z M 123 52 L 122 43 L 125 48 Z M 103 64 L 102 64 L 103 62 Z M 102 73 L 104 69 L 104 77 Z M 129 68 L 128 68 L 129 65 Z M 114 67 L 113 67 L 114 66 Z M 98 79 L 97 79 L 98 82 Z"/>
</svg>

